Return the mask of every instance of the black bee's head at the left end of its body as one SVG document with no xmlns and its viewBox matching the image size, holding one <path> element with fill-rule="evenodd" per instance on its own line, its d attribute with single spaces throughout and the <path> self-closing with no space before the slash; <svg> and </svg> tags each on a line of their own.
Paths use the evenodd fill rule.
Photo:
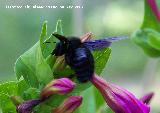
<svg viewBox="0 0 160 113">
<path fill-rule="evenodd" d="M 53 50 L 52 54 L 54 54 L 55 56 L 61 56 L 61 55 L 65 54 L 65 52 L 67 51 L 68 39 L 65 38 L 64 36 L 61 36 L 61 35 L 55 34 L 55 33 L 53 34 L 53 36 L 58 38 L 60 40 L 60 42 L 58 42 L 56 44 L 56 47 Z"/>
</svg>

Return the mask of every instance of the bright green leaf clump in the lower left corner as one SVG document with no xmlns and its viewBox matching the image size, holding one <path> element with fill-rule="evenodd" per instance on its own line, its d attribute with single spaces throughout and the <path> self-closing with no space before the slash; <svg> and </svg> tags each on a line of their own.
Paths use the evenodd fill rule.
<svg viewBox="0 0 160 113">
<path fill-rule="evenodd" d="M 15 99 L 29 100 L 39 98 L 39 93 L 38 89 L 29 88 L 24 80 L 0 84 L 0 109 L 2 109 L 3 113 L 16 113 L 15 104 L 19 100 Z"/>
</svg>

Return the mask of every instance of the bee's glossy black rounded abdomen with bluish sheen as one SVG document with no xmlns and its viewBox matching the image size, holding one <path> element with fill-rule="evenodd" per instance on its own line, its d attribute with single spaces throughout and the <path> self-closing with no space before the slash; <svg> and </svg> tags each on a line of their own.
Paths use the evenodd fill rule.
<svg viewBox="0 0 160 113">
<path fill-rule="evenodd" d="M 94 59 L 88 48 L 77 48 L 74 51 L 74 54 L 66 56 L 66 60 L 70 67 L 75 71 L 79 82 L 87 82 L 92 78 L 94 72 Z"/>
</svg>

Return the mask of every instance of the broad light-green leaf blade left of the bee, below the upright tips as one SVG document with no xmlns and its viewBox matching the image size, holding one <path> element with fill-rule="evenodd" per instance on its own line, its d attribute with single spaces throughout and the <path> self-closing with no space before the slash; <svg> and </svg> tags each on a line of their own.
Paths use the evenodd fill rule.
<svg viewBox="0 0 160 113">
<path fill-rule="evenodd" d="M 39 87 L 52 80 L 52 70 L 43 58 L 40 43 L 21 55 L 15 64 L 17 78 L 23 76 L 31 87 Z"/>
</svg>

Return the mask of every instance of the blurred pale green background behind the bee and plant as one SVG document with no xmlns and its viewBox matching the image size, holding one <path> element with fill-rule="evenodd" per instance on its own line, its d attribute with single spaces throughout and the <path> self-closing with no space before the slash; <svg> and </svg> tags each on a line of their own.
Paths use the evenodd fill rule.
<svg viewBox="0 0 160 113">
<path fill-rule="evenodd" d="M 6 9 L 6 5 L 82 5 L 81 9 Z M 143 0 L 1 0 L 0 3 L 0 82 L 15 80 L 16 59 L 39 38 L 43 21 L 48 35 L 62 20 L 67 36 L 91 31 L 94 38 L 130 35 L 143 21 Z M 154 91 L 152 113 L 160 113 L 160 63 L 147 57 L 131 40 L 116 42 L 102 76 L 137 97 Z"/>
</svg>

